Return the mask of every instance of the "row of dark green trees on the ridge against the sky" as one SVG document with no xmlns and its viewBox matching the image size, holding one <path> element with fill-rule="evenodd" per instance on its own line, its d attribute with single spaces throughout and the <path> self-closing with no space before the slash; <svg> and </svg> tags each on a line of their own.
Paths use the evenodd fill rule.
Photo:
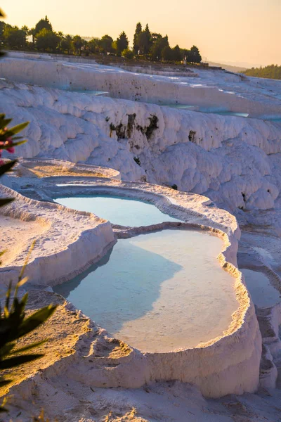
<svg viewBox="0 0 281 422">
<path fill-rule="evenodd" d="M 171 48 L 168 36 L 150 32 L 148 24 L 143 27 L 137 23 L 133 37 L 133 49 L 129 49 L 129 39 L 123 31 L 117 39 L 105 34 L 101 38 L 86 40 L 79 35 L 63 34 L 53 31 L 46 16 L 33 28 L 21 28 L 0 21 L 0 44 L 6 49 L 66 53 L 78 56 L 106 54 L 122 56 L 126 59 L 141 58 L 169 63 L 201 63 L 201 55 L 196 46 L 181 49 L 178 45 Z"/>
</svg>

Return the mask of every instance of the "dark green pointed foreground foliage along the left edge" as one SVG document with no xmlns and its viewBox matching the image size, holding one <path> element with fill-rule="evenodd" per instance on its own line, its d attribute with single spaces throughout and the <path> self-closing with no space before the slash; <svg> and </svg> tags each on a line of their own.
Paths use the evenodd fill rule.
<svg viewBox="0 0 281 422">
<path fill-rule="evenodd" d="M 0 17 L 3 17 L 4 14 L 0 10 Z M 22 32 L 26 34 L 28 28 L 22 29 Z M 14 152 L 15 146 L 18 146 L 22 143 L 25 143 L 25 139 L 22 139 L 22 136 L 18 135 L 29 122 L 18 124 L 14 127 L 8 128 L 12 119 L 7 119 L 4 113 L 0 114 L 0 158 L 3 150 L 7 150 L 10 153 Z M 15 160 L 0 165 L 0 177 L 10 171 L 15 165 Z M 7 205 L 13 200 L 13 198 L 1 198 L 0 207 Z M 34 243 L 32 248 L 34 247 Z M 44 356 L 43 354 L 33 354 L 27 353 L 30 350 L 42 345 L 46 340 L 42 340 L 37 343 L 30 343 L 25 347 L 17 347 L 17 342 L 23 336 L 31 333 L 36 330 L 39 326 L 44 324 L 44 322 L 55 312 L 56 306 L 48 305 L 37 311 L 33 312 L 31 315 L 26 316 L 25 307 L 27 304 L 28 294 L 20 299 L 18 298 L 18 289 L 23 286 L 27 281 L 27 277 L 24 277 L 25 267 L 27 262 L 30 259 L 30 254 L 32 252 L 30 249 L 25 264 L 20 271 L 18 277 L 18 283 L 15 286 L 15 290 L 12 289 L 12 283 L 8 286 L 6 293 L 6 300 L 4 307 L 0 303 L 0 371 L 6 369 L 13 369 L 16 366 L 33 362 L 35 359 L 39 359 Z M 0 251 L 0 257 L 4 255 L 5 251 Z M 13 297 L 12 297 L 13 296 Z M 11 379 L 0 379 L 0 386 L 8 385 L 11 383 Z M 0 406 L 0 412 L 4 412 L 6 409 L 3 404 Z M 38 420 L 44 420 L 43 417 Z"/>
</svg>

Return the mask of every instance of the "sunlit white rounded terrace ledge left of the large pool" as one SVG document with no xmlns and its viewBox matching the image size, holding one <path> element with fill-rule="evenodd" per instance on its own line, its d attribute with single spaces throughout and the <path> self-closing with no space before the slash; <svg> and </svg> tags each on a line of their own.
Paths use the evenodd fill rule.
<svg viewBox="0 0 281 422">
<path fill-rule="evenodd" d="M 89 212 L 32 200 L 3 185 L 0 195 L 15 198 L 0 208 L 1 219 L 8 219 L 5 230 L 1 224 L 0 250 L 10 247 L 13 252 L 6 264 L 4 254 L 1 286 L 17 281 L 33 241 L 25 276 L 30 283 L 41 285 L 63 283 L 79 274 L 115 242 L 110 223 Z M 41 229 L 34 229 L 34 224 Z M 23 236 L 26 226 L 28 237 Z"/>
</svg>

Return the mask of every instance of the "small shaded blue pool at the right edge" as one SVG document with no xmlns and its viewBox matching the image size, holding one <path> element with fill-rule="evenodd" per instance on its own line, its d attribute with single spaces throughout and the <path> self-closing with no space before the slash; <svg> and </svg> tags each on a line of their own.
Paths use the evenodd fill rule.
<svg viewBox="0 0 281 422">
<path fill-rule="evenodd" d="M 259 271 L 242 269 L 246 286 L 251 294 L 254 304 L 258 307 L 270 307 L 281 302 L 281 293 L 274 288 L 268 277 Z"/>
</svg>

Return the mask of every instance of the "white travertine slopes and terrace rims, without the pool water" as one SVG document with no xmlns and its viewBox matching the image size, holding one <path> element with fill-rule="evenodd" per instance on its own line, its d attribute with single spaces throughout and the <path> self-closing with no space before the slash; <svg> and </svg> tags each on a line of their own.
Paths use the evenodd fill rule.
<svg viewBox="0 0 281 422">
<path fill-rule="evenodd" d="M 188 77 L 151 76 L 22 54 L 1 60 L 0 76 L 6 78 L 0 81 L 5 112 L 15 123 L 30 120 L 28 142 L 17 150 L 22 157 L 18 167 L 1 179 L 1 196 L 16 198 L 1 209 L 3 240 L 9 238 L 12 248 L 18 245 L 0 267 L 1 284 L 16 279 L 27 244 L 37 238 L 27 265 L 30 309 L 52 301 L 60 305 L 55 333 L 51 335 L 52 321 L 46 324 L 50 359 L 35 364 L 31 378 L 23 371 L 11 388 L 19 405 L 34 388 L 57 389 L 62 396 L 53 400 L 53 409 L 41 397 L 37 404 L 54 417 L 62 399 L 62 421 L 93 421 L 91 411 L 72 402 L 75 389 L 91 388 L 91 394 L 98 389 L 108 402 L 107 388 L 114 389 L 112 397 L 124 388 L 124 399 L 126 391 L 137 397 L 138 390 L 135 395 L 131 389 L 154 391 L 155 382 L 176 382 L 178 391 L 185 385 L 211 398 L 275 388 L 280 306 L 255 312 L 239 267 L 268 271 L 270 282 L 280 288 L 281 83 L 209 70 Z M 107 96 L 85 90 L 106 91 Z M 193 110 L 163 106 L 167 103 L 189 104 Z M 218 114 L 226 111 L 249 117 Z M 148 200 L 184 223 L 112 226 L 102 216 L 53 203 L 58 193 L 96 192 Z M 122 338 L 110 338 L 49 287 L 89 267 L 118 238 L 173 225 L 223 239 L 218 260 L 221 271 L 230 271 L 235 279 L 237 310 L 228 330 L 209 343 L 169 353 L 140 352 Z M 70 333 L 69 326 L 76 328 Z M 58 347 L 61 341 L 67 350 Z M 62 383 L 67 388 L 61 389 Z M 249 395 L 249 403 L 253 397 Z M 128 406 L 119 406 L 124 420 L 137 421 Z M 77 407 L 77 419 L 75 410 L 73 419 L 67 413 L 70 407 Z M 168 408 L 166 412 L 165 418 L 185 420 L 183 415 L 173 419 Z M 190 421 L 203 421 L 199 413 Z M 27 417 L 27 409 L 23 414 Z M 97 414 L 98 421 L 105 416 Z M 230 420 L 223 412 L 222 418 L 211 415 L 207 421 Z M 274 412 L 272 420 L 278 420 Z"/>
</svg>

